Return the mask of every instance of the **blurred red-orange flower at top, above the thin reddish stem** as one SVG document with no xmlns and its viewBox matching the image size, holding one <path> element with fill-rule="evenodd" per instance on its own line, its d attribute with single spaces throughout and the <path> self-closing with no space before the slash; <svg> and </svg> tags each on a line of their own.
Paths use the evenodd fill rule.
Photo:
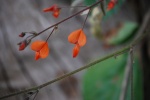
<svg viewBox="0 0 150 100">
<path fill-rule="evenodd" d="M 45 8 L 43 9 L 43 12 L 52 12 L 53 13 L 53 16 L 55 18 L 58 18 L 59 14 L 60 14 L 60 9 L 57 5 L 52 5 L 51 7 L 49 8 Z"/>
</svg>

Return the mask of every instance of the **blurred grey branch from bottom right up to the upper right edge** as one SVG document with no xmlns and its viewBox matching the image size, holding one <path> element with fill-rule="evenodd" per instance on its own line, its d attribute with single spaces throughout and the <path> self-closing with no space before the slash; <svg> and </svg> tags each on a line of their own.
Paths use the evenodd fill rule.
<svg viewBox="0 0 150 100">
<path fill-rule="evenodd" d="M 148 10 L 148 12 L 146 13 L 143 23 L 141 25 L 141 28 L 139 29 L 137 36 L 134 39 L 133 45 L 135 45 L 138 41 L 140 41 L 143 37 L 140 37 L 140 35 L 142 35 L 142 33 L 147 30 L 147 26 L 148 26 L 148 22 L 150 20 L 150 8 Z M 149 31 L 149 29 L 147 30 L 147 32 Z M 144 36 L 145 37 L 145 36 Z M 133 100 L 134 97 L 134 91 L 133 91 L 133 46 L 131 45 L 131 49 L 130 49 L 130 57 L 129 57 L 129 61 L 130 62 L 130 66 L 128 65 L 125 69 L 125 75 L 124 75 L 124 80 L 122 83 L 122 90 L 121 90 L 121 94 L 120 94 L 120 98 L 119 100 L 125 100 L 125 96 L 126 96 L 126 92 L 127 92 L 127 88 L 128 88 L 128 83 L 129 83 L 129 78 L 131 80 L 131 100 Z M 131 76 L 131 77 L 130 77 Z"/>
</svg>

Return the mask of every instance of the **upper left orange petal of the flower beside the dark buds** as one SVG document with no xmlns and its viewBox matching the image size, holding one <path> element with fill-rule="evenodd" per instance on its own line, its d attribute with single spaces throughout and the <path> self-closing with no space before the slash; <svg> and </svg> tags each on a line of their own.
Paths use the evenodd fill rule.
<svg viewBox="0 0 150 100">
<path fill-rule="evenodd" d="M 40 51 L 45 43 L 46 43 L 45 41 L 39 41 L 39 40 L 38 41 L 34 41 L 31 44 L 31 49 L 34 50 L 34 51 Z"/>
</svg>

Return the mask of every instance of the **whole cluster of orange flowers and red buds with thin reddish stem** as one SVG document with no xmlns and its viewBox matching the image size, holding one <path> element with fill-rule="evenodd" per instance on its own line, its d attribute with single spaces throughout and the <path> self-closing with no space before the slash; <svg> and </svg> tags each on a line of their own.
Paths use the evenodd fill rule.
<svg viewBox="0 0 150 100">
<path fill-rule="evenodd" d="M 98 2 L 100 3 L 100 1 Z M 96 4 L 98 4 L 96 3 Z M 107 7 L 107 10 L 111 10 L 114 8 L 115 4 L 117 3 L 117 0 L 110 0 L 110 2 L 108 3 L 108 7 Z M 19 34 L 19 37 L 23 38 L 26 36 L 26 34 L 28 34 L 28 36 L 23 40 L 21 41 L 20 43 L 18 43 L 19 45 L 19 50 L 22 51 L 24 50 L 31 42 L 31 40 L 33 38 L 35 38 L 36 36 L 40 35 L 41 33 L 45 32 L 46 30 L 53 28 L 52 32 L 49 34 L 48 38 L 43 41 L 43 40 L 37 40 L 37 41 L 34 41 L 32 42 L 31 44 L 31 49 L 33 51 L 35 51 L 35 60 L 38 60 L 40 58 L 46 58 L 48 55 L 49 55 L 49 52 L 50 52 L 50 49 L 48 47 L 48 39 L 50 38 L 50 36 L 52 35 L 52 33 L 54 32 L 54 30 L 56 30 L 58 27 L 58 25 L 80 13 L 83 13 L 84 11 L 87 11 L 88 10 L 88 14 L 87 14 L 87 17 L 89 15 L 89 12 L 90 10 L 92 9 L 92 7 L 94 7 L 95 5 L 93 4 L 93 6 L 91 7 L 87 7 L 85 8 L 84 10 L 58 22 L 57 24 L 54 24 L 50 27 L 48 27 L 47 29 L 39 32 L 39 33 L 36 33 L 36 32 L 22 32 L 21 34 Z M 59 15 L 60 15 L 60 10 L 62 8 L 61 7 L 58 7 L 56 4 L 55 5 L 52 5 L 51 7 L 49 8 L 45 8 L 43 9 L 43 12 L 51 12 L 52 15 L 55 17 L 55 18 L 58 18 Z M 75 31 L 73 31 L 72 33 L 70 33 L 70 35 L 68 36 L 68 41 L 72 44 L 74 44 L 74 48 L 72 50 L 72 56 L 73 58 L 77 57 L 77 55 L 79 54 L 79 51 L 81 49 L 81 47 L 83 47 L 85 44 L 86 44 L 86 35 L 83 31 L 83 28 L 84 28 L 84 25 L 85 25 L 85 22 L 87 20 L 87 17 L 84 21 L 84 24 L 83 24 L 83 27 L 81 29 L 77 29 Z"/>
</svg>

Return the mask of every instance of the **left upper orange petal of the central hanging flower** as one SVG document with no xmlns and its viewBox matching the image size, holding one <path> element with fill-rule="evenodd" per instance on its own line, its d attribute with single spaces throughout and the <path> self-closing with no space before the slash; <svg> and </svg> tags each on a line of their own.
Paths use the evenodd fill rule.
<svg viewBox="0 0 150 100">
<path fill-rule="evenodd" d="M 82 31 L 81 29 L 78 29 L 78 30 L 70 33 L 70 35 L 68 36 L 68 41 L 70 43 L 76 44 L 78 42 L 81 31 Z"/>
</svg>

